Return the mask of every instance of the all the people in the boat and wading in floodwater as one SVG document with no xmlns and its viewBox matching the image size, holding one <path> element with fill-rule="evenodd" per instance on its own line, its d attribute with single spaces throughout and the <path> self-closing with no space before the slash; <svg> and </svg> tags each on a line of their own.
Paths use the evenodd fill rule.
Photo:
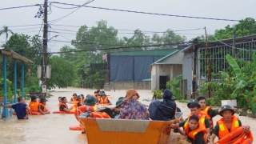
<svg viewBox="0 0 256 144">
<path fill-rule="evenodd" d="M 181 111 L 175 100 L 171 90 L 163 91 L 163 100 L 154 101 L 150 103 L 150 106 L 146 106 L 138 101 L 140 95 L 137 90 L 130 89 L 126 91 L 125 97 L 118 98 L 116 106 L 111 108 L 112 118 L 121 119 L 139 119 L 139 120 L 158 120 L 158 121 L 170 121 L 175 119 L 175 114 Z M 66 97 L 59 97 L 59 111 L 70 113 L 70 110 L 79 108 L 80 106 L 110 106 L 112 103 L 107 98 L 104 91 L 97 90 L 94 95 L 88 94 L 86 98 L 83 94 L 73 94 L 73 98 L 70 102 L 67 102 Z M 5 107 L 13 108 L 17 114 L 18 119 L 27 119 L 28 115 L 32 112 L 38 114 L 50 114 L 50 111 L 46 109 L 46 98 L 40 98 L 38 102 L 37 96 L 32 96 L 29 105 L 25 103 L 25 99 L 18 98 L 18 103 L 14 105 L 4 105 Z M 70 108 L 66 103 L 73 104 Z M 198 97 L 197 99 L 191 99 L 187 104 L 190 109 L 190 114 L 187 118 L 181 118 L 180 122 L 170 124 L 170 128 L 174 129 L 174 132 L 178 132 L 185 135 L 193 144 L 214 144 L 214 139 L 218 137 L 219 141 L 230 141 L 225 136 L 238 128 L 242 127 L 241 133 L 247 134 L 247 140 L 250 141 L 250 126 L 242 126 L 242 122 L 238 117 L 234 116 L 235 108 L 225 105 L 220 109 L 212 109 L 210 106 L 206 106 L 206 98 Z M 89 110 L 97 110 L 94 108 L 86 108 L 82 112 Z M 213 118 L 216 115 L 222 116 L 216 122 L 214 126 Z M 182 128 L 181 128 L 182 127 Z M 82 130 L 82 134 L 85 130 Z M 245 141 L 245 139 L 243 139 Z"/>
</svg>

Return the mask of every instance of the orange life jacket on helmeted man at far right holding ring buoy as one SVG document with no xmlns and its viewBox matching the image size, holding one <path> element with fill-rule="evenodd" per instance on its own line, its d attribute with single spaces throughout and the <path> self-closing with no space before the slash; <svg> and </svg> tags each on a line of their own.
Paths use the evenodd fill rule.
<svg viewBox="0 0 256 144">
<path fill-rule="evenodd" d="M 226 136 L 226 134 L 230 134 L 230 132 L 233 132 L 239 128 L 239 122 L 238 122 L 238 117 L 235 117 L 234 115 L 231 117 L 232 118 L 232 124 L 230 131 L 227 129 L 226 124 L 223 122 L 224 118 L 221 118 L 220 120 L 217 121 L 218 124 L 218 138 L 221 139 Z"/>
</svg>

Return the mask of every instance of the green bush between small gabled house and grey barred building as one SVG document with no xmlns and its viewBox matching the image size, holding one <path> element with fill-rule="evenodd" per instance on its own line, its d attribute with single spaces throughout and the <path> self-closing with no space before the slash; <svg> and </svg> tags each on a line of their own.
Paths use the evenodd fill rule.
<svg viewBox="0 0 256 144">
<path fill-rule="evenodd" d="M 172 90 L 177 99 L 184 99 L 184 95 L 181 95 L 181 80 L 182 74 L 166 83 L 166 87 L 169 87 Z"/>
</svg>

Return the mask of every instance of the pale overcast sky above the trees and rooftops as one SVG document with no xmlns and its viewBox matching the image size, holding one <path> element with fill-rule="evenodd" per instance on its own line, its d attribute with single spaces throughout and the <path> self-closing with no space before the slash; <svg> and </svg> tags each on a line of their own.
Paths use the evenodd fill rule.
<svg viewBox="0 0 256 144">
<path fill-rule="evenodd" d="M 50 2 L 64 2 L 82 5 L 86 1 L 82 0 L 53 0 Z M 13 6 L 26 6 L 34 4 L 42 4 L 43 0 L 0 0 L 0 9 Z M 54 4 L 61 7 L 74 7 Z M 95 0 L 88 6 L 98 6 L 106 8 L 114 8 L 121 10 L 135 10 L 158 14 L 175 14 L 186 15 L 195 17 L 206 18 L 226 18 L 241 20 L 244 18 L 256 19 L 256 1 L 255 0 Z M 39 6 L 26 7 L 21 9 L 0 10 L 0 30 L 2 26 L 10 26 L 9 29 L 18 34 L 38 34 L 40 26 L 26 26 L 41 24 L 42 18 L 34 18 L 34 15 L 38 12 Z M 52 6 L 52 13 L 48 15 L 48 20 L 61 18 L 62 16 L 69 14 L 75 9 L 58 9 Z M 108 26 L 114 26 L 115 29 L 125 30 L 148 30 L 148 31 L 165 31 L 171 30 L 187 30 L 197 29 L 206 26 L 208 34 L 214 34 L 214 30 L 224 28 L 227 25 L 234 25 L 238 22 L 229 21 L 216 21 L 206 19 L 195 18 L 177 18 L 150 14 L 135 14 L 121 11 L 112 10 L 100 10 L 82 7 L 81 9 L 70 14 L 66 18 L 55 22 L 56 25 L 70 25 L 70 26 L 96 26 L 96 22 L 99 20 L 106 20 Z M 24 27 L 11 27 L 11 26 L 24 26 Z M 78 27 L 64 27 L 64 26 L 52 26 L 52 28 L 62 29 L 56 30 L 62 33 L 62 36 L 53 38 L 53 40 L 69 41 L 75 38 L 75 32 Z M 33 28 L 30 30 L 20 30 L 26 28 Z M 71 31 L 64 31 L 64 30 Z M 118 33 L 127 33 L 129 31 L 118 30 Z M 63 34 L 68 33 L 68 34 Z M 191 30 L 178 32 L 178 34 L 185 35 L 187 40 L 204 34 L 204 30 Z M 40 33 L 42 35 L 42 32 Z M 50 37 L 56 34 L 50 34 Z M 59 34 L 58 34 L 59 35 Z M 118 34 L 118 38 L 122 36 L 131 37 L 132 34 Z M 5 42 L 5 34 L 0 36 L 0 44 Z M 65 37 L 65 38 L 63 38 Z M 49 49 L 51 52 L 58 51 L 62 46 L 70 43 L 50 43 Z"/>
</svg>

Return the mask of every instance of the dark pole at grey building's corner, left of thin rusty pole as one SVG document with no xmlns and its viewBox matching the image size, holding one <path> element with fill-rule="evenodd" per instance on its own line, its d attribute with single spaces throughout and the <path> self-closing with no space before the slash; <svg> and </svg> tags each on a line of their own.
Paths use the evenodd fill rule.
<svg viewBox="0 0 256 144">
<path fill-rule="evenodd" d="M 194 39 L 194 62 L 193 62 L 193 78 L 192 78 L 192 98 L 195 99 L 196 83 L 197 83 L 197 52 L 198 52 L 198 38 Z"/>
</svg>

